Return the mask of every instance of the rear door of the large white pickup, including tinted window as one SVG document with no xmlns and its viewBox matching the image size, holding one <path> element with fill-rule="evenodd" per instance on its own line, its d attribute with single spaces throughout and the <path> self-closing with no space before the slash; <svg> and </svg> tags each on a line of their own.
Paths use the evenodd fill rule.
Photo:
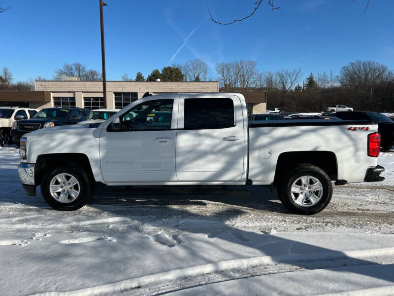
<svg viewBox="0 0 394 296">
<path fill-rule="evenodd" d="M 181 96 L 176 138 L 178 181 L 240 180 L 246 132 L 237 96 Z"/>
</svg>

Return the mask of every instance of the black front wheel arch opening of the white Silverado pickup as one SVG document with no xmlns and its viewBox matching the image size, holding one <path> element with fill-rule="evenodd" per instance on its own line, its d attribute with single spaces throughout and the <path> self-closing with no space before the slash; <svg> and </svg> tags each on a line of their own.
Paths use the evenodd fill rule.
<svg viewBox="0 0 394 296">
<path fill-rule="evenodd" d="M 72 163 L 78 164 L 82 167 L 89 179 L 95 182 L 92 171 L 92 166 L 89 158 L 83 153 L 49 153 L 41 154 L 37 157 L 34 167 L 34 183 L 40 185 L 42 177 L 49 168 L 60 166 L 59 163 L 63 162 L 66 166 L 72 166 Z"/>
</svg>

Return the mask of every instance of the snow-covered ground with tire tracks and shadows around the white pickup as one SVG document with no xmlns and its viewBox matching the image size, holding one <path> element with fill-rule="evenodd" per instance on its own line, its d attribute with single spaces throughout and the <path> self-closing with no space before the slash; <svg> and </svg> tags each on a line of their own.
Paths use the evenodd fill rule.
<svg viewBox="0 0 394 296">
<path fill-rule="evenodd" d="M 0 295 L 394 295 L 394 153 L 378 162 L 384 182 L 314 216 L 261 186 L 97 188 L 57 212 L 0 148 Z"/>
</svg>

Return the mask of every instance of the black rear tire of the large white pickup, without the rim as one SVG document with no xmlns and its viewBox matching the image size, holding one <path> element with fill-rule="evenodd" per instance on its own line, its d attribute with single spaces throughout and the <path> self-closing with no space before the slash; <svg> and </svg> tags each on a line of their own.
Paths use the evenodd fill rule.
<svg viewBox="0 0 394 296">
<path fill-rule="evenodd" d="M 312 176 L 319 180 L 323 186 L 320 200 L 311 206 L 298 205 L 292 198 L 291 187 L 302 176 Z M 299 164 L 283 177 L 278 187 L 278 195 L 282 204 L 292 213 L 313 215 L 323 211 L 329 204 L 332 196 L 332 183 L 328 175 L 321 168 L 312 164 Z"/>
</svg>

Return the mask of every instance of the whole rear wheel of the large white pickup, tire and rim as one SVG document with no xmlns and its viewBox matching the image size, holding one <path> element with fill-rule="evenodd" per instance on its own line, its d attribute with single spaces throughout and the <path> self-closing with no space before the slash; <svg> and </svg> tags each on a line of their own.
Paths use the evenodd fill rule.
<svg viewBox="0 0 394 296">
<path fill-rule="evenodd" d="M 331 180 L 321 168 L 300 164 L 283 178 L 279 199 L 292 213 L 312 215 L 324 210 L 331 200 Z"/>
</svg>

